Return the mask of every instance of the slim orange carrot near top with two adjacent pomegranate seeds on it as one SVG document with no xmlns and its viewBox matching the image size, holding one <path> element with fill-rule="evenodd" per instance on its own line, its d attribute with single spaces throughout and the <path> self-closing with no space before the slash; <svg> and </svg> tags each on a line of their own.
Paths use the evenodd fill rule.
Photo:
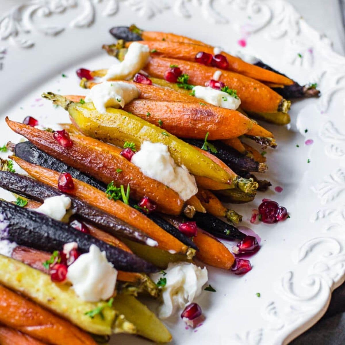
<svg viewBox="0 0 345 345">
<path fill-rule="evenodd" d="M 125 47 L 129 47 L 132 42 L 126 42 Z M 181 59 L 187 61 L 195 61 L 195 56 L 198 52 L 203 51 L 208 54 L 214 55 L 213 47 L 206 47 L 203 45 L 183 43 L 183 42 L 169 42 L 166 41 L 140 41 L 140 44 L 147 45 L 152 51 L 156 49 L 156 54 L 162 54 L 164 57 Z M 228 62 L 229 66 L 227 70 L 240 73 L 244 76 L 260 80 L 263 82 L 268 82 L 269 87 L 277 87 L 277 85 L 292 85 L 293 80 L 282 76 L 278 73 L 274 73 L 267 69 L 252 65 L 251 63 L 245 62 L 240 58 L 232 56 L 224 51 L 220 54 L 224 55 Z M 271 86 L 273 85 L 273 86 Z"/>
</svg>

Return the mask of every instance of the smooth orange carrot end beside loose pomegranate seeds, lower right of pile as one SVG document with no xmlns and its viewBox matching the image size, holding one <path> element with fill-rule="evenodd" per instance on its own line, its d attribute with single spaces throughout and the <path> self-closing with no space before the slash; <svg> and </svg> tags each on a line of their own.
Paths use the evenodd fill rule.
<svg viewBox="0 0 345 345">
<path fill-rule="evenodd" d="M 196 257 L 205 264 L 223 269 L 230 269 L 234 264 L 235 258 L 224 244 L 205 231 L 198 229 L 193 241 L 199 248 Z"/>
</svg>

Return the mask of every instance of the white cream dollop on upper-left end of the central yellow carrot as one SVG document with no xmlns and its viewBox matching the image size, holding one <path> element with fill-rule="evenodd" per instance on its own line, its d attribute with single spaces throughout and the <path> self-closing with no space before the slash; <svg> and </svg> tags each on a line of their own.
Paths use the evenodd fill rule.
<svg viewBox="0 0 345 345">
<path fill-rule="evenodd" d="M 135 85 L 123 81 L 103 81 L 91 88 L 85 101 L 93 102 L 96 110 L 105 114 L 107 107 L 123 108 L 139 95 L 140 91 Z"/>
</svg>

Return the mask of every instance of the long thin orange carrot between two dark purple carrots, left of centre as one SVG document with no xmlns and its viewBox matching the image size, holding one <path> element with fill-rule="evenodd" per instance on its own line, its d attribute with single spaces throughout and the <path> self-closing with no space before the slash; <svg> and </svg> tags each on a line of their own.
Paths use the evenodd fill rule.
<svg viewBox="0 0 345 345">
<path fill-rule="evenodd" d="M 60 176 L 58 172 L 47 168 L 42 168 L 38 165 L 30 164 L 18 157 L 12 156 L 11 159 L 16 161 L 22 169 L 40 182 L 46 183 L 52 187 L 57 186 L 58 178 Z M 142 215 L 138 210 L 122 203 L 119 200 L 109 200 L 105 193 L 86 183 L 83 183 L 82 181 L 73 179 L 73 183 L 75 188 L 72 193 L 70 193 L 71 195 L 84 200 L 93 207 L 97 207 L 111 215 L 114 215 L 115 217 L 118 217 L 132 226 L 140 227 L 140 230 L 157 241 L 158 248 L 163 250 L 175 250 L 177 253 L 187 254 L 189 256 L 194 255 L 195 250 L 188 248 L 175 237 L 166 233 L 166 231 L 157 226 L 149 218 Z"/>
</svg>

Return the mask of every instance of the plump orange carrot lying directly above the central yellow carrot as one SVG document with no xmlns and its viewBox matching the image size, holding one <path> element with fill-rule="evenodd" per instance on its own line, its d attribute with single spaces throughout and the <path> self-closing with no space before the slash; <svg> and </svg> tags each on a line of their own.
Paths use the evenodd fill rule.
<svg viewBox="0 0 345 345">
<path fill-rule="evenodd" d="M 181 138 L 210 140 L 236 138 L 248 132 L 253 122 L 236 110 L 204 106 L 198 103 L 134 100 L 124 110 Z M 147 113 L 150 116 L 147 116 Z"/>
</svg>

